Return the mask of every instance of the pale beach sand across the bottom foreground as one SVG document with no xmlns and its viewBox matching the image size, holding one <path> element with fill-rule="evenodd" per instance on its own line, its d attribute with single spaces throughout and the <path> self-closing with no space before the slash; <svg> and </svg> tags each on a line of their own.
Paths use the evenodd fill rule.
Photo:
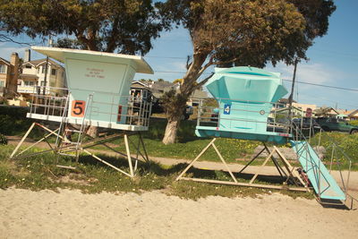
<svg viewBox="0 0 358 239">
<path fill-rule="evenodd" d="M 281 194 L 199 201 L 162 192 L 0 191 L 1 238 L 357 238 L 358 210 Z"/>
</svg>

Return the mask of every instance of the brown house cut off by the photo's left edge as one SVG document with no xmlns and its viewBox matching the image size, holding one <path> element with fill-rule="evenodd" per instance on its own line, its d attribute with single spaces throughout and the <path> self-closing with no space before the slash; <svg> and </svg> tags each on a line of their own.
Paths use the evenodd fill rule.
<svg viewBox="0 0 358 239">
<path fill-rule="evenodd" d="M 11 97 L 16 94 L 19 76 L 19 55 L 11 55 L 10 62 L 0 57 L 0 96 Z"/>
</svg>

